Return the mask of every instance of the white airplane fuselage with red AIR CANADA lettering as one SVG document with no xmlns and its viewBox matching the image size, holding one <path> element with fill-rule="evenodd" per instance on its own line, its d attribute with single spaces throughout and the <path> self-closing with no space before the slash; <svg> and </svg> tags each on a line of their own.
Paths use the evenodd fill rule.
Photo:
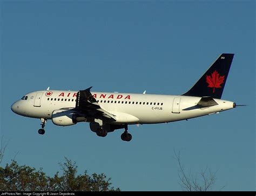
<svg viewBox="0 0 256 196">
<path fill-rule="evenodd" d="M 91 92 L 100 108 L 116 116 L 116 124 L 152 124 L 187 120 L 233 108 L 233 102 L 214 99 L 216 106 L 197 108 L 201 97 Z M 40 90 L 25 95 L 11 109 L 16 114 L 50 120 L 54 110 L 75 108 L 77 91 Z"/>
</svg>

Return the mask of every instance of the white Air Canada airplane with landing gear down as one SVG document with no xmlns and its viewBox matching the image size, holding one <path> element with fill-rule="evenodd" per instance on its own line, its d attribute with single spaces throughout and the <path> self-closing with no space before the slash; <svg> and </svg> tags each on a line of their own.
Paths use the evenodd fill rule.
<svg viewBox="0 0 256 196">
<path fill-rule="evenodd" d="M 21 116 L 39 118 L 41 135 L 48 120 L 59 126 L 88 122 L 91 131 L 100 137 L 124 129 L 121 139 L 129 142 L 131 124 L 188 120 L 237 107 L 232 101 L 221 100 L 233 56 L 221 54 L 182 95 L 91 92 L 92 87 L 79 91 L 48 88 L 24 95 L 12 104 L 11 110 Z"/>
</svg>

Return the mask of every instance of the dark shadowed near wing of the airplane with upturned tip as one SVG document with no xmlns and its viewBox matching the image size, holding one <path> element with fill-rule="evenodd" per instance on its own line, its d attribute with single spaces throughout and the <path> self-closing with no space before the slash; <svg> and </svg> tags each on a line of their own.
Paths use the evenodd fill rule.
<svg viewBox="0 0 256 196">
<path fill-rule="evenodd" d="M 115 115 L 110 114 L 106 110 L 100 108 L 95 97 L 93 97 L 90 92 L 91 88 L 92 87 L 85 90 L 79 90 L 77 93 L 76 110 L 88 117 L 99 119 L 106 118 L 107 120 L 116 121 Z"/>
</svg>

